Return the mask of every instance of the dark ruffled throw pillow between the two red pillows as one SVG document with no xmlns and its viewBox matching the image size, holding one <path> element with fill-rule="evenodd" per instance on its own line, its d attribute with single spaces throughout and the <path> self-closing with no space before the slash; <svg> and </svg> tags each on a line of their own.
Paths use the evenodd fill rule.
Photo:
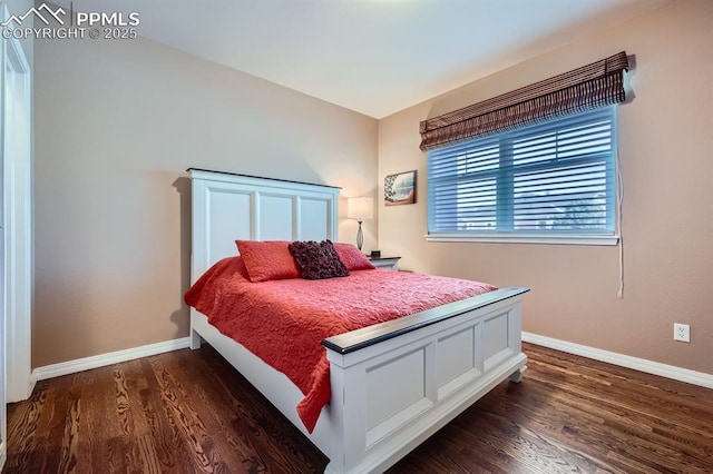
<svg viewBox="0 0 713 474">
<path fill-rule="evenodd" d="M 302 278 L 324 279 L 349 276 L 349 270 L 340 260 L 330 240 L 293 241 L 289 248 Z"/>
</svg>

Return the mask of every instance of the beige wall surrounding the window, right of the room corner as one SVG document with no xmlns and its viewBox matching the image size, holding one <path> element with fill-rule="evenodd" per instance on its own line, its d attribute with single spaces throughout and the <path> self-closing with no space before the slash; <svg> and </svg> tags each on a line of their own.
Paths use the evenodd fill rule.
<svg viewBox="0 0 713 474">
<path fill-rule="evenodd" d="M 420 120 L 621 50 L 635 57 L 635 98 L 618 109 L 624 299 L 618 247 L 424 241 Z M 713 2 L 680 0 L 381 120 L 380 181 L 417 168 L 421 189 L 416 206 L 380 203 L 382 254 L 419 271 L 531 287 L 527 332 L 713 374 L 712 52 Z M 691 324 L 691 344 L 673 342 L 674 322 Z"/>
</svg>

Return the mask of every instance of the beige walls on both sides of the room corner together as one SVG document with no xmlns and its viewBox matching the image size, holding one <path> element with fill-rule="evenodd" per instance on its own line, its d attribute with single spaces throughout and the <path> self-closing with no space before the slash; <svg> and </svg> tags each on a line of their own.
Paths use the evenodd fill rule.
<svg viewBox="0 0 713 474">
<path fill-rule="evenodd" d="M 624 299 L 615 247 L 424 241 L 420 120 L 619 50 L 636 96 L 619 107 Z M 367 250 L 379 236 L 404 268 L 531 287 L 525 330 L 713 373 L 711 51 L 713 2 L 678 0 L 377 124 L 145 39 L 37 41 L 32 365 L 187 335 L 193 166 L 343 196 L 418 169 L 418 204 L 381 201 Z M 341 221 L 342 240 L 355 230 Z"/>
</svg>

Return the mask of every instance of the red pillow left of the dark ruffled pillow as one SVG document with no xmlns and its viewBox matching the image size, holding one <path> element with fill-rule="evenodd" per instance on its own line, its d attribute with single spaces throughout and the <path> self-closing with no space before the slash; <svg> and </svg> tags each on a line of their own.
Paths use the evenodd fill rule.
<svg viewBox="0 0 713 474">
<path fill-rule="evenodd" d="M 286 240 L 235 240 L 251 282 L 299 278 Z"/>
</svg>

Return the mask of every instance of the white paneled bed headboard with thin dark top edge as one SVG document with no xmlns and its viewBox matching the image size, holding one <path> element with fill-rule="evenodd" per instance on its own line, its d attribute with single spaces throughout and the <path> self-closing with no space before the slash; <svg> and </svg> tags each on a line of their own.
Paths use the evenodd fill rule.
<svg viewBox="0 0 713 474">
<path fill-rule="evenodd" d="M 236 239 L 338 238 L 341 188 L 189 168 L 194 283 L 221 258 L 237 255 Z"/>
</svg>

